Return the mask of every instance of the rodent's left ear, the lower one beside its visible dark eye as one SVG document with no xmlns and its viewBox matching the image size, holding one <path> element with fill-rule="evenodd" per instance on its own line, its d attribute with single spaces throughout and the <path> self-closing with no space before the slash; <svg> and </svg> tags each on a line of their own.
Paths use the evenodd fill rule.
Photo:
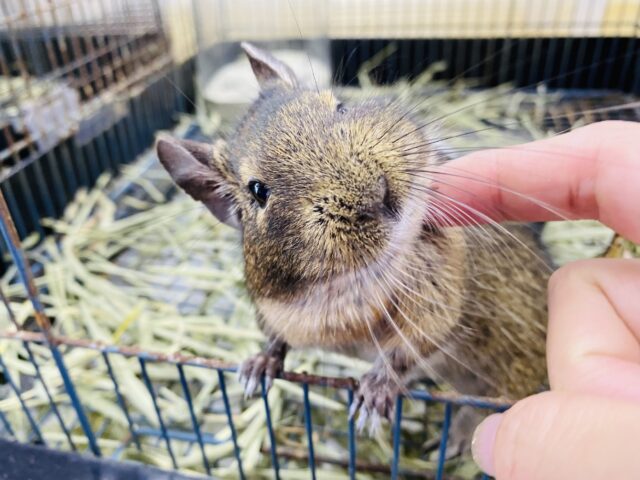
<svg viewBox="0 0 640 480">
<path fill-rule="evenodd" d="M 226 144 L 181 140 L 163 136 L 156 141 L 156 151 L 162 166 L 173 181 L 193 199 L 205 204 L 218 220 L 240 228 L 230 178 L 224 164 Z"/>
</svg>

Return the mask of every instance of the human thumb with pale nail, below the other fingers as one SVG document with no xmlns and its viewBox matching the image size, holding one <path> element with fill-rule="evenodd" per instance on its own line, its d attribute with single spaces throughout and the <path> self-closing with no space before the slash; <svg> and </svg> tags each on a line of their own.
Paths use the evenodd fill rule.
<svg viewBox="0 0 640 480">
<path fill-rule="evenodd" d="M 473 457 L 497 480 L 640 478 L 640 405 L 569 392 L 525 398 L 486 418 Z"/>
</svg>

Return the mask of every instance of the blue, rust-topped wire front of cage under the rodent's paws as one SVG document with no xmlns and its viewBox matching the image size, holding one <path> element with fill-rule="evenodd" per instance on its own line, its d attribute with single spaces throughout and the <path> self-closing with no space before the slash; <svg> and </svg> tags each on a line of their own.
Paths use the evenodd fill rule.
<svg viewBox="0 0 640 480">
<path fill-rule="evenodd" d="M 64 432 L 64 436 L 67 442 L 67 447 L 73 451 L 82 451 L 72 439 L 70 431 L 77 428 L 79 425 L 83 435 L 86 438 L 86 442 L 88 444 L 88 449 L 96 456 L 101 456 L 102 452 L 100 447 L 98 446 L 98 438 L 100 435 L 100 431 L 105 428 L 104 425 L 100 425 L 97 428 L 92 427 L 87 417 L 87 408 L 88 405 L 83 404 L 82 399 L 79 397 L 74 381 L 70 375 L 70 372 L 65 364 L 64 354 L 68 354 L 70 349 L 87 349 L 96 352 L 100 355 L 102 361 L 104 362 L 104 367 L 106 368 L 109 378 L 112 382 L 113 392 L 117 401 L 119 408 L 121 408 L 122 413 L 126 417 L 128 426 L 129 426 L 129 436 L 122 440 L 122 447 L 115 450 L 114 458 L 118 458 L 121 453 L 121 449 L 125 448 L 129 444 L 134 444 L 136 448 L 141 449 L 141 444 L 139 438 L 141 436 L 151 436 L 157 437 L 162 440 L 166 446 L 167 452 L 171 457 L 172 465 L 174 468 L 179 468 L 180 464 L 178 459 L 176 458 L 174 451 L 172 449 L 172 440 L 180 440 L 187 441 L 196 444 L 201 451 L 202 464 L 204 466 L 205 472 L 211 472 L 211 466 L 207 459 L 207 456 L 204 451 L 204 446 L 206 444 L 219 444 L 220 440 L 216 437 L 207 434 L 201 430 L 199 420 L 194 411 L 192 396 L 189 390 L 188 385 L 188 376 L 186 374 L 186 367 L 197 367 L 197 368 L 205 368 L 212 372 L 212 374 L 216 374 L 219 382 L 219 394 L 222 399 L 224 413 L 227 418 L 228 427 L 230 430 L 229 437 L 224 440 L 226 442 L 231 442 L 233 445 L 233 457 L 235 458 L 236 468 L 238 472 L 238 478 L 245 478 L 245 474 L 242 467 L 242 459 L 240 456 L 240 447 L 237 441 L 237 435 L 234 427 L 234 415 L 237 411 L 232 407 L 231 402 L 229 400 L 229 396 L 227 393 L 226 387 L 226 376 L 229 373 L 236 372 L 236 365 L 229 364 L 226 362 L 218 361 L 215 359 L 207 359 L 207 358 L 198 358 L 198 357 L 187 357 L 182 355 L 162 355 L 156 354 L 152 352 L 141 351 L 139 349 L 131 348 L 131 347 L 118 347 L 115 345 L 104 345 L 100 342 L 91 341 L 91 340 L 81 340 L 81 339 L 71 339 L 71 338 L 62 338 L 53 336 L 50 332 L 50 322 L 48 321 L 46 314 L 44 312 L 42 303 L 39 300 L 37 289 L 33 283 L 33 274 L 31 273 L 29 264 L 25 259 L 24 253 L 21 251 L 20 241 L 17 236 L 17 232 L 13 227 L 11 222 L 11 218 L 8 216 L 8 209 L 6 202 L 4 201 L 4 197 L 0 195 L 0 231 L 2 233 L 3 239 L 9 246 L 9 250 L 14 258 L 15 264 L 17 266 L 18 274 L 25 286 L 27 286 L 29 290 L 29 298 L 33 306 L 34 313 L 36 314 L 36 318 L 38 319 L 38 323 L 41 327 L 40 332 L 28 332 L 24 330 L 17 330 L 14 332 L 3 332 L 0 333 L 0 338 L 10 339 L 12 341 L 20 341 L 22 342 L 25 350 L 28 352 L 29 359 L 34 366 L 35 369 L 35 377 L 42 385 L 43 390 L 46 392 L 47 399 L 49 401 L 50 411 L 44 414 L 41 418 L 36 418 L 31 409 L 26 405 L 25 401 L 22 398 L 22 394 L 19 386 L 12 379 L 11 373 L 5 363 L 2 361 L 2 356 L 0 355 L 0 371 L 2 371 L 5 381 L 11 386 L 12 393 L 19 399 L 20 407 L 24 412 L 25 417 L 28 419 L 28 422 L 32 429 L 33 438 L 29 437 L 26 439 L 18 439 L 22 441 L 33 441 L 35 439 L 36 443 L 43 444 L 45 446 L 54 446 L 48 445 L 42 434 L 40 433 L 39 425 L 48 420 L 50 415 L 53 415 L 56 421 L 59 423 L 61 430 Z M 4 295 L 3 295 L 4 298 Z M 10 315 L 13 315 L 11 306 L 8 303 L 5 303 Z M 19 326 L 17 326 L 19 327 Z M 36 355 L 33 354 L 32 346 L 33 345 L 43 345 L 51 353 L 51 358 L 55 362 L 55 365 L 59 371 L 60 376 L 64 382 L 64 391 L 67 396 L 66 401 L 54 401 L 52 399 L 52 394 L 50 392 L 49 387 L 47 386 L 47 382 L 43 378 L 39 365 L 40 362 L 43 361 L 42 358 L 37 359 Z M 127 407 L 127 403 L 124 400 L 121 394 L 121 386 L 117 379 L 117 373 L 114 372 L 112 368 L 110 358 L 112 356 L 124 356 L 124 357 L 132 357 L 136 358 L 140 365 L 141 376 L 146 385 L 149 397 L 153 403 L 155 414 L 157 415 L 157 420 L 159 424 L 159 428 L 152 428 L 146 425 L 140 425 L 139 422 L 136 422 Z M 46 361 L 46 360 L 45 360 Z M 157 393 L 156 387 L 148 374 L 149 363 L 153 362 L 162 362 L 174 365 L 176 368 L 176 378 L 179 379 L 182 392 L 183 399 L 186 402 L 188 407 L 189 416 L 192 425 L 192 431 L 180 431 L 180 430 L 172 430 L 168 428 L 165 419 L 163 418 L 163 414 L 161 408 L 157 403 Z M 345 390 L 348 394 L 349 405 L 353 402 L 353 392 L 357 387 L 357 383 L 351 378 L 331 378 L 331 377 L 321 377 L 318 375 L 308 375 L 304 373 L 292 373 L 286 372 L 283 374 L 282 378 L 289 382 L 294 382 L 302 385 L 303 388 L 303 418 L 304 418 L 304 429 L 306 432 L 307 439 L 307 455 L 306 460 L 308 461 L 308 467 L 310 471 L 311 478 L 316 478 L 316 464 L 318 461 L 320 462 L 332 462 L 335 460 L 316 457 L 314 453 L 314 436 L 313 436 L 313 419 L 312 419 L 312 408 L 309 401 L 309 386 L 324 386 L 332 389 L 340 389 Z M 274 434 L 274 426 L 271 421 L 271 409 L 269 405 L 268 395 L 265 394 L 265 383 L 264 378 L 262 379 L 261 384 L 261 397 L 263 400 L 263 408 L 266 415 L 266 425 L 268 429 L 269 436 L 269 455 L 271 458 L 271 467 L 273 469 L 273 473 L 275 478 L 280 478 L 280 463 L 279 457 L 284 458 L 297 458 L 296 455 L 292 455 L 287 451 L 280 451 L 277 447 L 275 434 Z M 443 430 L 442 436 L 440 439 L 439 446 L 439 455 L 438 455 L 438 463 L 437 463 L 437 473 L 436 478 L 442 479 L 444 478 L 444 462 L 446 458 L 446 446 L 447 446 L 447 438 L 448 431 L 451 424 L 451 415 L 454 406 L 462 406 L 469 405 L 475 408 L 489 409 L 494 411 L 503 411 L 509 407 L 508 403 L 502 402 L 496 399 L 490 398 L 481 398 L 481 397 L 473 397 L 473 396 L 464 396 L 457 394 L 446 394 L 446 393 L 431 393 L 429 391 L 424 390 L 414 390 L 409 394 L 409 398 L 414 401 L 423 401 L 429 403 L 443 403 L 445 405 L 444 411 L 444 419 L 443 419 Z M 71 421 L 65 420 L 62 418 L 60 414 L 61 406 L 67 410 L 71 410 L 75 415 Z M 348 469 L 349 477 L 355 479 L 356 472 L 358 471 L 382 471 L 391 473 L 391 478 L 399 478 L 399 475 L 402 473 L 399 465 L 399 457 L 400 457 L 400 448 L 401 448 L 401 434 L 400 434 L 400 426 L 402 424 L 403 419 L 403 396 L 399 396 L 396 403 L 395 409 L 395 418 L 393 423 L 393 457 L 390 463 L 390 466 L 385 468 L 385 466 L 381 465 L 367 465 L 364 462 L 358 462 L 356 452 L 356 431 L 354 427 L 353 419 L 348 421 L 347 425 L 347 437 L 348 437 L 348 456 L 346 461 L 346 467 Z M 14 429 L 12 428 L 10 422 L 7 418 L 0 412 L 0 422 L 4 427 L 5 435 L 9 437 L 15 438 Z M 60 448 L 60 445 L 55 445 L 56 448 Z M 298 458 L 299 459 L 299 458 Z M 484 478 L 484 477 L 483 477 Z"/>
</svg>

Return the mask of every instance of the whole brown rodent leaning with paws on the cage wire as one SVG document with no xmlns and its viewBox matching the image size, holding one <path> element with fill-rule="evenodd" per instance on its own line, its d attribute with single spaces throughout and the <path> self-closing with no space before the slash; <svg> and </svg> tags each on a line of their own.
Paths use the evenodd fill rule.
<svg viewBox="0 0 640 480">
<path fill-rule="evenodd" d="M 389 416 L 412 373 L 462 393 L 518 398 L 546 381 L 549 268 L 524 226 L 451 226 L 441 162 L 399 102 L 342 103 L 243 44 L 261 86 L 227 142 L 163 138 L 175 182 L 242 234 L 246 284 L 271 339 L 246 390 L 289 347 L 377 352 L 361 418 Z M 459 222 L 456 222 L 459 224 Z"/>
</svg>

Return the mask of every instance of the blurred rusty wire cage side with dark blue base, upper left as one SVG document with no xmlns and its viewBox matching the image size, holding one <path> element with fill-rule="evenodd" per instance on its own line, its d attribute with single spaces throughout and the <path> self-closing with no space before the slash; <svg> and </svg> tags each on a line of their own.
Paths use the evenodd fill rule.
<svg viewBox="0 0 640 480">
<path fill-rule="evenodd" d="M 169 48 L 151 0 L 1 7 L 2 190 L 24 238 L 191 108 L 179 91 L 192 90 L 195 45 Z"/>
</svg>

